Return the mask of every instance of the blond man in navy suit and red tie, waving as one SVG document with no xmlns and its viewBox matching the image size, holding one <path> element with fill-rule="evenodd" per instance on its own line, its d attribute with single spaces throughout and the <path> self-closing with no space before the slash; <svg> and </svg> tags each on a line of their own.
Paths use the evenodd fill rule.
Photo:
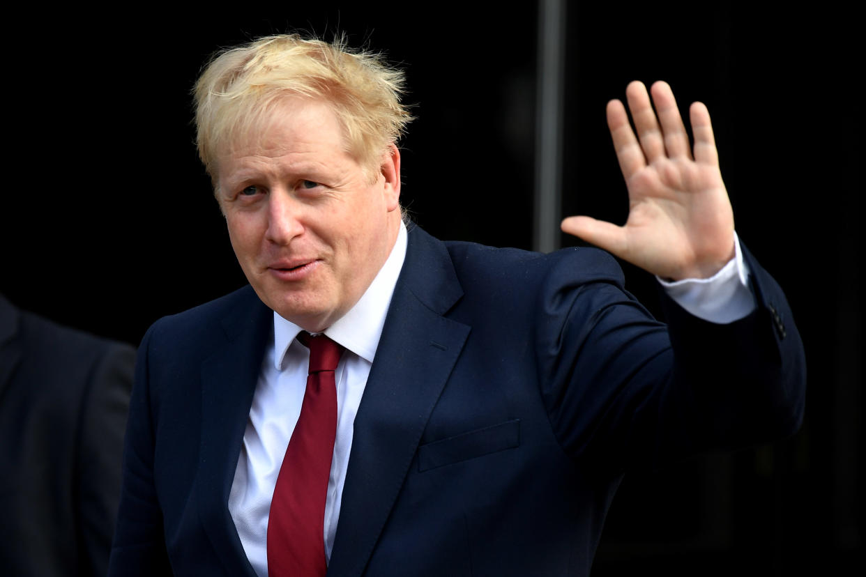
<svg viewBox="0 0 866 577">
<path fill-rule="evenodd" d="M 143 340 L 110 574 L 585 575 L 623 471 L 798 427 L 801 343 L 735 240 L 706 107 L 693 155 L 669 87 L 656 117 L 632 83 L 637 138 L 608 106 L 629 221 L 563 223 L 665 279 L 667 328 L 596 249 L 407 226 L 401 87 L 294 35 L 198 80 L 250 286 Z"/>
</svg>

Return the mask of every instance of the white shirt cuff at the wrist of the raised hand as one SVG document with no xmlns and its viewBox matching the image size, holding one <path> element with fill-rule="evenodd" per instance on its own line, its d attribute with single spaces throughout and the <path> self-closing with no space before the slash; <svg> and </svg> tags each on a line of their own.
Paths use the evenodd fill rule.
<svg viewBox="0 0 866 577">
<path fill-rule="evenodd" d="M 727 324 L 747 317 L 757 308 L 749 288 L 749 269 L 734 232 L 734 258 L 709 279 L 682 279 L 668 282 L 656 276 L 677 305 L 710 323 Z"/>
</svg>

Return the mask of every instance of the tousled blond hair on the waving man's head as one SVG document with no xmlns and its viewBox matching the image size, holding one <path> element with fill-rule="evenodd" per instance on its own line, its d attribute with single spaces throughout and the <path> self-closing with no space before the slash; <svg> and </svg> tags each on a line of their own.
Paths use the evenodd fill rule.
<svg viewBox="0 0 866 577">
<path fill-rule="evenodd" d="M 216 183 L 217 157 L 250 133 L 262 133 L 282 98 L 301 96 L 333 106 L 346 151 L 365 170 L 378 167 L 411 120 L 400 103 L 403 90 L 403 71 L 379 54 L 350 50 L 344 39 L 260 38 L 218 52 L 198 78 L 198 155 Z"/>
</svg>

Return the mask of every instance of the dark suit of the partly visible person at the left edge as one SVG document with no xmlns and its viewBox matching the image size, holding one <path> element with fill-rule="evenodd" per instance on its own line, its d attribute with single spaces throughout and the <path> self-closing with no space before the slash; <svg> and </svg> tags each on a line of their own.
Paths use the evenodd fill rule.
<svg viewBox="0 0 866 577">
<path fill-rule="evenodd" d="M 0 574 L 107 573 L 134 362 L 0 296 Z"/>
</svg>

